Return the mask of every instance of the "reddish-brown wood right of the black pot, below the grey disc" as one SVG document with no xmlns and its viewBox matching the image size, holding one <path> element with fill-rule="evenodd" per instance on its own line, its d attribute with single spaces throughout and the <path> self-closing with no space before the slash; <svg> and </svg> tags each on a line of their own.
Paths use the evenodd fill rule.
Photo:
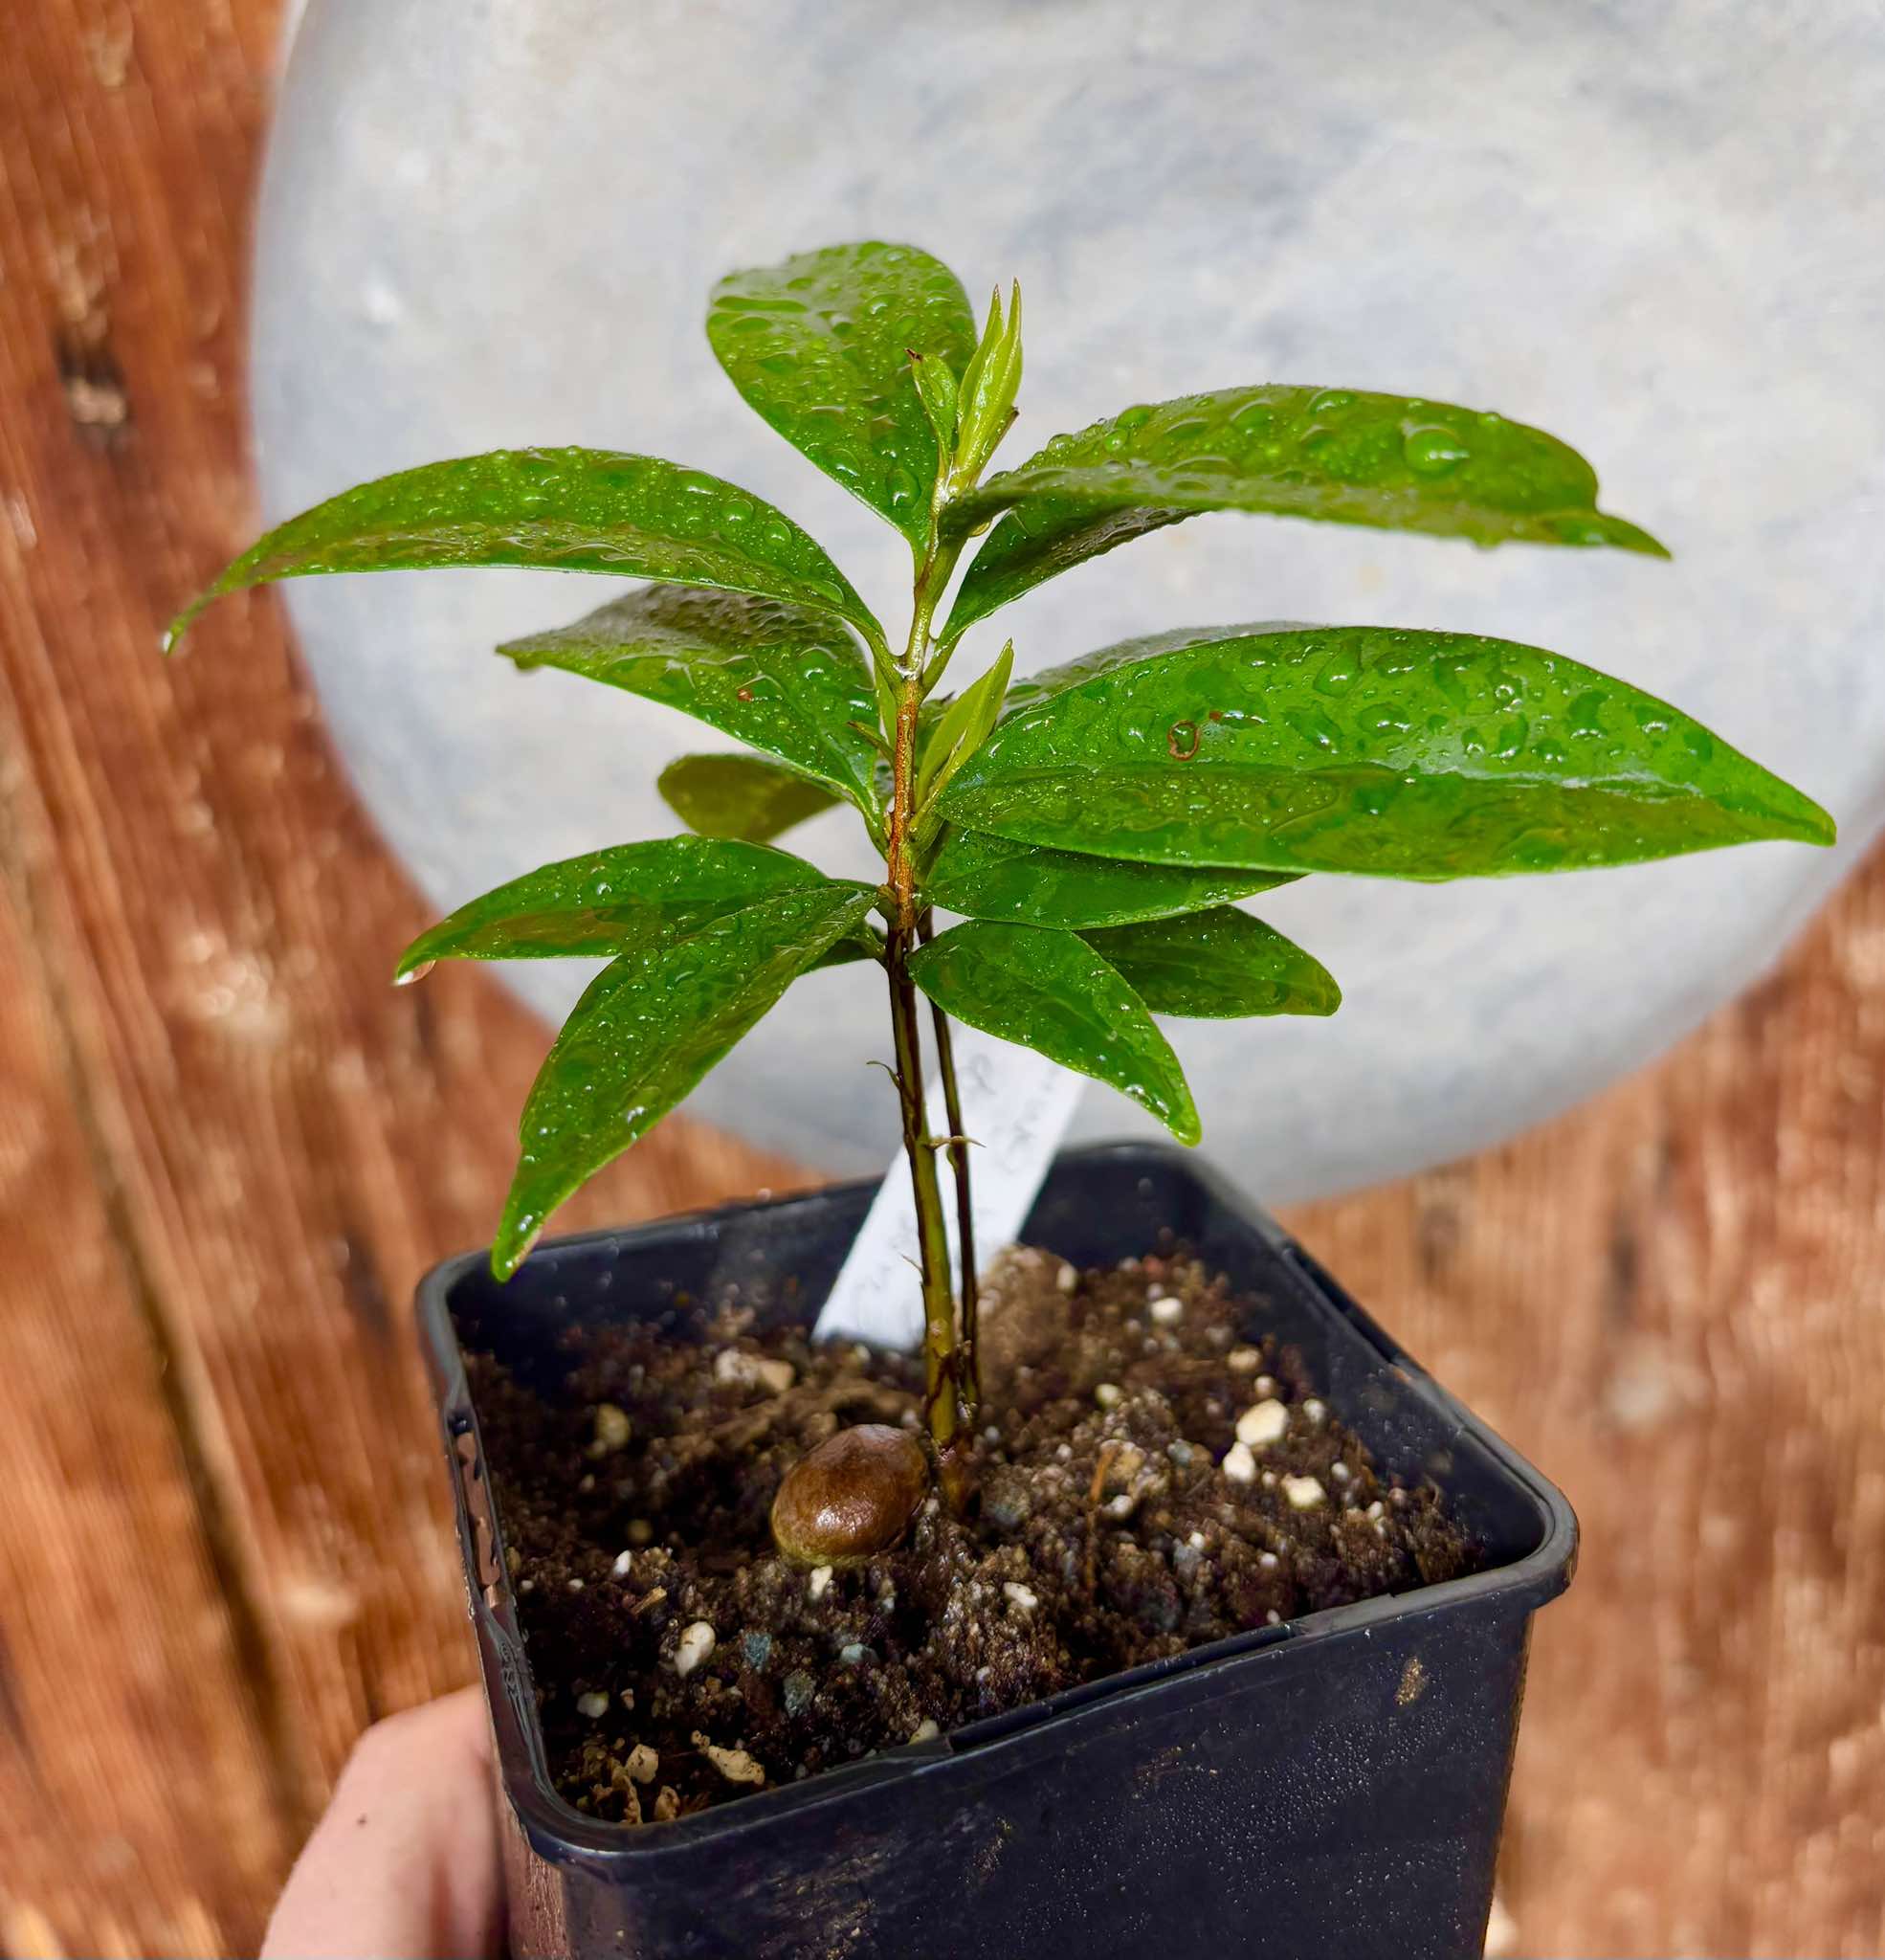
<svg viewBox="0 0 1885 1960">
<path fill-rule="evenodd" d="M 1885 1952 L 1885 857 L 1658 1070 L 1291 1225 L 1583 1521 L 1511 1952 Z"/>
</svg>

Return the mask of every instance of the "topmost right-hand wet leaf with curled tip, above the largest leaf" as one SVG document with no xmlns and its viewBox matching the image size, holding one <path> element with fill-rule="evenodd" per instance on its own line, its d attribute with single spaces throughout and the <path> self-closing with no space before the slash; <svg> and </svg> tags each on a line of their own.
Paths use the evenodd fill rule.
<svg viewBox="0 0 1885 1960">
<path fill-rule="evenodd" d="M 1522 421 L 1346 388 L 1225 388 L 1056 435 L 956 498 L 942 519 L 950 535 L 1001 521 L 962 578 L 944 637 L 1205 510 L 1668 557 L 1646 531 L 1597 510 L 1597 474 L 1575 449 Z"/>
</svg>

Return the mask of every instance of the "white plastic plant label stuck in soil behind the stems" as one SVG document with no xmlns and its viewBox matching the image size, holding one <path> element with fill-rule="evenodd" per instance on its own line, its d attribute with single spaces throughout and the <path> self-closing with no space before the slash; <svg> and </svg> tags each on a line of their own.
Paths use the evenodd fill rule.
<svg viewBox="0 0 1885 1960">
<path fill-rule="evenodd" d="M 956 1053 L 956 1090 L 962 1098 L 962 1131 L 974 1139 L 968 1166 L 976 1254 L 986 1264 L 1021 1231 L 1046 1166 L 1074 1119 L 1086 1078 L 1033 1049 L 1017 1049 L 960 1021 L 950 1025 L 950 1033 Z M 925 1109 L 931 1135 L 946 1135 L 942 1086 L 937 1080 L 925 1086 Z M 954 1180 L 946 1156 L 939 1158 L 937 1168 L 954 1268 L 958 1256 Z M 917 1207 L 909 1194 L 909 1166 L 897 1154 L 819 1313 L 817 1337 L 913 1348 L 923 1337 L 923 1290 L 915 1258 Z"/>
</svg>

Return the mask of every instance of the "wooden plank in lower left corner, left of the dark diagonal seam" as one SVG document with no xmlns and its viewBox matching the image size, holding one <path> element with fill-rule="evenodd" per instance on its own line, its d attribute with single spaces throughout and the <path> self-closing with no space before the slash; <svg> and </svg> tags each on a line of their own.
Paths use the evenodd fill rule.
<svg viewBox="0 0 1885 1960">
<path fill-rule="evenodd" d="M 0 1952 L 212 1952 L 257 1931 L 298 1793 L 33 951 L 24 796 L 16 776 L 0 855 Z"/>
</svg>

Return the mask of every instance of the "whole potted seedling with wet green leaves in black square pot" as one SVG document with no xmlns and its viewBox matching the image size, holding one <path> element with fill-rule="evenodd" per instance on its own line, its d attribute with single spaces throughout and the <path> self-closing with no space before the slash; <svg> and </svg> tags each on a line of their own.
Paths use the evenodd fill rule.
<svg viewBox="0 0 1885 1960">
<path fill-rule="evenodd" d="M 312 572 L 633 576 L 500 651 L 758 751 L 662 774 L 690 835 L 525 872 L 398 966 L 607 960 L 531 1090 L 488 1258 L 421 1288 L 513 1944 L 1475 1952 L 1526 1625 L 1570 1574 L 1564 1499 L 1176 1152 L 1062 1156 L 1037 1250 L 978 1286 L 950 1017 L 1195 1143 L 1158 1015 L 1338 1002 L 1240 900 L 1309 872 L 1830 843 L 1832 823 L 1679 710 L 1501 639 L 1203 627 L 1021 680 L 1011 647 L 966 670 L 1009 600 L 1207 510 L 1662 555 L 1538 429 L 1250 386 L 1127 408 L 988 474 L 1019 288 L 978 331 L 907 245 L 739 272 L 707 335 L 747 402 L 909 541 L 907 631 L 756 496 L 588 449 L 349 490 L 174 629 Z M 880 882 L 774 847 L 833 804 Z M 921 1356 L 807 1341 L 860 1186 L 527 1258 L 837 960 L 884 970 Z"/>
</svg>

